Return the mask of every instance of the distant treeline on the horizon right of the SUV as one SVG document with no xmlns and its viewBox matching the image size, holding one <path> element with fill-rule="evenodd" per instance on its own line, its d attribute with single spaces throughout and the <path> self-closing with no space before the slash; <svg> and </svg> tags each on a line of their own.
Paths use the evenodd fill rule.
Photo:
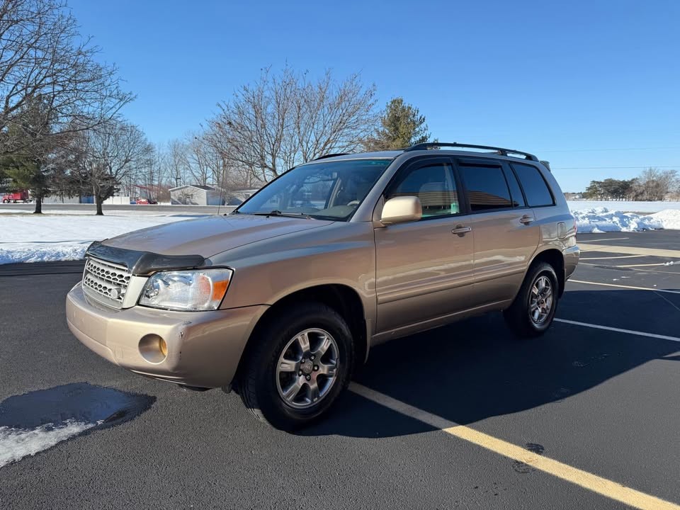
<svg viewBox="0 0 680 510">
<path fill-rule="evenodd" d="M 646 169 L 635 179 L 590 181 L 583 193 L 590 200 L 680 200 L 675 170 Z"/>
</svg>

